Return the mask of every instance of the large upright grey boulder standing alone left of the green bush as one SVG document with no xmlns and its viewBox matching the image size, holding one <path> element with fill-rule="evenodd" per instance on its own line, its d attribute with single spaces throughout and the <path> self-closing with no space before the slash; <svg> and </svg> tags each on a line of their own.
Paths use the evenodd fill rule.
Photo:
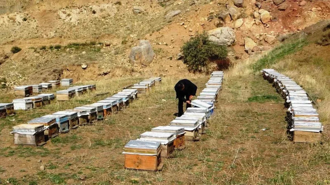
<svg viewBox="0 0 330 185">
<path fill-rule="evenodd" d="M 155 53 L 153 52 L 149 41 L 140 40 L 139 46 L 132 48 L 131 53 L 129 54 L 129 60 L 134 66 L 148 66 L 152 62 L 154 55 Z"/>
</svg>

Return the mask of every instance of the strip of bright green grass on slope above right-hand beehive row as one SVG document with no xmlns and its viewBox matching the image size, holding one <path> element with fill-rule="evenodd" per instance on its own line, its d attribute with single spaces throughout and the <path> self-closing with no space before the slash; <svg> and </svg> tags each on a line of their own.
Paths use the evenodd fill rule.
<svg viewBox="0 0 330 185">
<path fill-rule="evenodd" d="M 263 68 L 270 68 L 276 61 L 301 50 L 307 44 L 308 42 L 306 39 L 300 39 L 296 42 L 282 44 L 253 64 L 253 70 L 260 71 Z"/>
</svg>

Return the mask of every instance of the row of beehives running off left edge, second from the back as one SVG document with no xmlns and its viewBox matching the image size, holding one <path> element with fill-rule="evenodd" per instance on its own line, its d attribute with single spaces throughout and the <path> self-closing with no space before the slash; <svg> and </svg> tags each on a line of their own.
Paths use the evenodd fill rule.
<svg viewBox="0 0 330 185">
<path fill-rule="evenodd" d="M 93 91 L 96 89 L 95 85 L 81 85 L 81 86 L 74 86 L 70 87 L 68 90 L 63 91 L 72 91 L 74 95 L 79 96 L 80 94 L 84 94 L 88 91 Z M 87 91 L 88 90 L 88 91 Z M 57 91 L 56 98 L 57 100 L 68 100 L 67 97 L 70 94 L 60 94 Z M 0 118 L 4 118 L 6 116 L 11 116 L 15 114 L 14 110 L 30 110 L 32 108 L 43 107 L 48 105 L 55 99 L 55 94 L 39 94 L 36 96 L 25 97 L 20 99 L 14 99 L 12 103 L 2 103 L 0 104 Z M 6 111 L 5 111 L 6 110 Z"/>
</svg>

